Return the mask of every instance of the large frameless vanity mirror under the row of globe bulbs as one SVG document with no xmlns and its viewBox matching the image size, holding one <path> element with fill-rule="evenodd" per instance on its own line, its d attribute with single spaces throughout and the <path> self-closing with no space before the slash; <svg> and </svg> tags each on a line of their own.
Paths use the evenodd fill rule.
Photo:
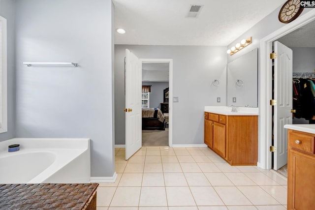
<svg viewBox="0 0 315 210">
<path fill-rule="evenodd" d="M 258 48 L 227 63 L 226 105 L 257 107 Z"/>
</svg>

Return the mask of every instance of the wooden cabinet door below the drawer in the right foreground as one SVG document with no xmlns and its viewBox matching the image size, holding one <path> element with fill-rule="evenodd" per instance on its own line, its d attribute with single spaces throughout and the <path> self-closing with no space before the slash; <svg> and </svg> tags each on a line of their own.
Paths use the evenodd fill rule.
<svg viewBox="0 0 315 210">
<path fill-rule="evenodd" d="M 312 210 L 315 201 L 315 156 L 288 152 L 288 210 Z"/>
</svg>

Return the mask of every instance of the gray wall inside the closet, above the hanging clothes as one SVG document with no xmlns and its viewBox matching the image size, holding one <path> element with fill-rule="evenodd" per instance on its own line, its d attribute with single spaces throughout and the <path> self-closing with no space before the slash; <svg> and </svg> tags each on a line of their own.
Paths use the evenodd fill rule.
<svg viewBox="0 0 315 210">
<path fill-rule="evenodd" d="M 315 47 L 290 47 L 293 51 L 293 72 L 314 72 Z"/>
</svg>

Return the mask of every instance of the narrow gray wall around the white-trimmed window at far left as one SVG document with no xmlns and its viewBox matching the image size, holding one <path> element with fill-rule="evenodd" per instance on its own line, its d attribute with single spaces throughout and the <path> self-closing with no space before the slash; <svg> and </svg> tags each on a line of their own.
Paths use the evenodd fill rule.
<svg viewBox="0 0 315 210">
<path fill-rule="evenodd" d="M 0 141 L 15 136 L 15 42 L 14 42 L 14 0 L 0 0 L 0 16 L 7 24 L 7 110 L 8 131 L 0 134 Z"/>
</svg>

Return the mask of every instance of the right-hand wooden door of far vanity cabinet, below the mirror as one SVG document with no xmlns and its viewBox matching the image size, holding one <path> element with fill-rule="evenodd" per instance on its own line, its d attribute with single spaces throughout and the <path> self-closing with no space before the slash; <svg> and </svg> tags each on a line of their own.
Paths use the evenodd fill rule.
<svg viewBox="0 0 315 210">
<path fill-rule="evenodd" d="M 213 122 L 213 150 L 225 158 L 225 125 Z"/>
</svg>

